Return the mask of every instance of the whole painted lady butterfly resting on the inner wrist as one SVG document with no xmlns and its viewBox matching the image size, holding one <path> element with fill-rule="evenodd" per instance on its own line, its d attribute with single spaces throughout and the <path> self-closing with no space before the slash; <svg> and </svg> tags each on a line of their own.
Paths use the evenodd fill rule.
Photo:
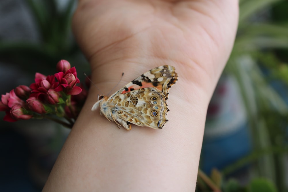
<svg viewBox="0 0 288 192">
<path fill-rule="evenodd" d="M 131 124 L 161 129 L 168 121 L 168 91 L 177 81 L 175 68 L 163 65 L 137 77 L 109 98 L 98 95 L 92 111 L 100 106 L 100 115 L 131 130 Z"/>
</svg>

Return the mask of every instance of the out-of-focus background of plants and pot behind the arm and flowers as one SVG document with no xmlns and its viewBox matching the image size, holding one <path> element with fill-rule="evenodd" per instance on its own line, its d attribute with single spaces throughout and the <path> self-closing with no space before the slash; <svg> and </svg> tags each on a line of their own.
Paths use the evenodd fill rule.
<svg viewBox="0 0 288 192">
<path fill-rule="evenodd" d="M 0 1 L 0 94 L 88 62 L 71 33 L 75 0 Z M 197 191 L 288 191 L 288 1 L 240 0 L 235 45 L 207 111 Z M 41 191 L 69 129 L 3 121 L 0 191 Z"/>
</svg>

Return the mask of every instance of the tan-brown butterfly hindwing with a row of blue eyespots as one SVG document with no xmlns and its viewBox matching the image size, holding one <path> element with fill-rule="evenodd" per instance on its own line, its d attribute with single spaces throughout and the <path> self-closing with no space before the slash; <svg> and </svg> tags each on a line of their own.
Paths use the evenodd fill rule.
<svg viewBox="0 0 288 192">
<path fill-rule="evenodd" d="M 166 113 L 169 109 L 166 105 L 166 98 L 156 88 L 132 90 L 119 94 L 112 100 L 115 104 L 115 107 L 111 108 L 114 119 L 126 123 L 130 128 L 132 123 L 138 126 L 161 129 L 164 123 L 168 121 Z"/>
</svg>

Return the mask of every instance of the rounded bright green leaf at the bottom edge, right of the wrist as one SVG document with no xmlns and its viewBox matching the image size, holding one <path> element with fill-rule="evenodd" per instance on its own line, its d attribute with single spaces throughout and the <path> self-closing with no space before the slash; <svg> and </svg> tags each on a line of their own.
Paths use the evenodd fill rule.
<svg viewBox="0 0 288 192">
<path fill-rule="evenodd" d="M 255 178 L 248 186 L 248 192 L 277 192 L 276 186 L 265 178 Z"/>
</svg>

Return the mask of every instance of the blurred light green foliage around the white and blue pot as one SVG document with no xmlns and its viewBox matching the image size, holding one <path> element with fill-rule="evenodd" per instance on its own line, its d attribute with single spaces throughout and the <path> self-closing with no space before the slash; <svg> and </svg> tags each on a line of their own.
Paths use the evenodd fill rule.
<svg viewBox="0 0 288 192">
<path fill-rule="evenodd" d="M 239 84 L 253 151 L 216 171 L 217 174 L 213 170 L 210 177 L 198 174 L 197 188 L 198 191 L 225 192 L 288 191 L 285 184 L 288 176 L 285 173 L 285 158 L 288 157 L 288 1 L 240 0 L 239 5 L 238 32 L 224 73 L 233 75 Z M 245 166 L 249 167 L 248 183 L 240 184 L 230 178 Z"/>
</svg>

